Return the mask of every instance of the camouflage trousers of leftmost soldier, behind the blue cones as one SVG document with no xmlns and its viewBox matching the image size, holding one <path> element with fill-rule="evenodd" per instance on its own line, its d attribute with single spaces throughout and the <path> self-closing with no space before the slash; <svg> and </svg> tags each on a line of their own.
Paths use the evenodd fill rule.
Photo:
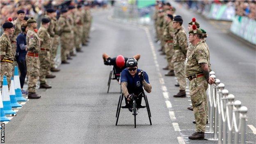
<svg viewBox="0 0 256 144">
<path fill-rule="evenodd" d="M 13 73 L 13 65 L 9 62 L 1 62 L 1 88 L 2 88 L 2 81 L 3 76 L 6 75 L 8 87 L 10 88 L 11 76 Z"/>
</svg>

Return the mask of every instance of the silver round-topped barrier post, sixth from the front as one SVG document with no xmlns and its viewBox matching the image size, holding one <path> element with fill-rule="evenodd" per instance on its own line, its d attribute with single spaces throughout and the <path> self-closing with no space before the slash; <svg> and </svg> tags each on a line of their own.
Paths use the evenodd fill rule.
<svg viewBox="0 0 256 144">
<path fill-rule="evenodd" d="M 218 91 L 219 91 L 219 83 L 220 83 L 220 80 L 219 79 L 216 79 L 215 80 L 215 101 L 214 102 L 214 107 L 215 107 L 215 111 L 214 111 L 214 138 L 215 140 L 218 139 L 218 119 L 219 119 L 219 112 L 218 112 L 218 101 L 219 101 L 219 98 L 217 97 L 218 96 Z"/>
</svg>

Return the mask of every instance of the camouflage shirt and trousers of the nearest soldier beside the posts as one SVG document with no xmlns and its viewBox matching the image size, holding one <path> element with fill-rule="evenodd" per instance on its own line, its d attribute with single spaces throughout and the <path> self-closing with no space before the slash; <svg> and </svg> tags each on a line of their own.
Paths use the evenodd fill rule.
<svg viewBox="0 0 256 144">
<path fill-rule="evenodd" d="M 196 46 L 194 46 L 194 50 L 192 50 L 190 56 L 187 59 L 187 64 L 185 66 L 186 77 L 197 73 L 203 73 L 200 64 L 206 63 L 209 65 L 209 62 L 210 55 L 208 49 L 202 43 L 202 41 L 200 41 Z M 192 79 L 189 84 L 197 132 L 205 132 L 206 129 L 207 88 L 208 82 L 204 76 Z"/>
</svg>

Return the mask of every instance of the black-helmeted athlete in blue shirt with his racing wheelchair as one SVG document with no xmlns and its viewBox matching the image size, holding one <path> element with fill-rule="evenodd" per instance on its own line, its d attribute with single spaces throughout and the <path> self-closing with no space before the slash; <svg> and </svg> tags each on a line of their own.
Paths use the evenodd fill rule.
<svg viewBox="0 0 256 144">
<path fill-rule="evenodd" d="M 122 94 L 119 96 L 119 102 L 117 105 L 117 121 L 119 119 L 119 114 L 121 108 L 128 108 L 130 112 L 134 115 L 134 126 L 136 128 L 136 115 L 139 108 L 146 108 L 149 115 L 149 122 L 151 123 L 151 112 L 149 108 L 149 102 L 144 89 L 146 92 L 151 92 L 151 85 L 149 83 L 149 77 L 145 71 L 138 69 L 138 62 L 135 58 L 131 57 L 127 60 L 127 69 L 121 72 L 121 90 Z M 125 97 L 125 106 L 121 106 L 123 97 Z M 145 106 L 142 106 L 142 97 L 145 100 Z"/>
</svg>

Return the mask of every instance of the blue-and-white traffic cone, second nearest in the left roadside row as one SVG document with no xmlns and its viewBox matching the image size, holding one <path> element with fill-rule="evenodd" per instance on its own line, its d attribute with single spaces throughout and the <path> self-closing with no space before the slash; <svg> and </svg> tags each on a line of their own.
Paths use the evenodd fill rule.
<svg viewBox="0 0 256 144">
<path fill-rule="evenodd" d="M 2 101 L 3 101 L 3 105 L 4 105 L 5 114 L 16 114 L 16 112 L 14 112 L 11 109 L 9 89 L 8 89 L 8 84 L 7 84 L 7 78 L 5 75 L 3 77 L 3 85 L 2 85 Z"/>
</svg>

